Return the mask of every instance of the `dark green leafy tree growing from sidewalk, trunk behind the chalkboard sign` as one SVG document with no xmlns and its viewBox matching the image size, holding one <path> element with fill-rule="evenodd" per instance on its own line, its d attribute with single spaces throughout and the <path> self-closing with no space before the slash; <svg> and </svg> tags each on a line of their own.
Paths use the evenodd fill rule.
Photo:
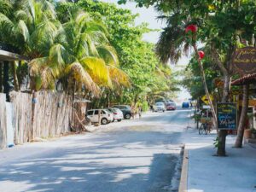
<svg viewBox="0 0 256 192">
<path fill-rule="evenodd" d="M 125 0 L 119 1 L 119 3 L 125 2 Z M 136 0 L 136 2 L 138 6 L 153 5 L 166 18 L 165 32 L 169 34 L 168 39 L 170 39 L 170 44 L 172 43 L 169 46 L 172 49 L 166 50 L 166 53 L 171 52 L 173 58 L 178 58 L 186 45 L 184 44 L 186 36 L 182 33 L 177 34 L 178 29 L 191 23 L 199 27 L 196 36 L 192 38 L 194 42 L 189 43 L 194 44 L 195 48 L 195 41 L 201 42 L 205 44 L 205 47 L 211 49 L 212 60 L 217 64 L 224 81 L 221 102 L 229 102 L 230 81 L 234 74 L 231 56 L 242 44 L 255 46 L 256 2 L 253 0 L 213 2 L 206 0 Z M 197 52 L 196 49 L 195 52 Z M 172 59 L 172 57 L 170 58 Z M 221 156 L 225 155 L 226 135 L 227 131 L 218 132 L 217 154 Z"/>
</svg>

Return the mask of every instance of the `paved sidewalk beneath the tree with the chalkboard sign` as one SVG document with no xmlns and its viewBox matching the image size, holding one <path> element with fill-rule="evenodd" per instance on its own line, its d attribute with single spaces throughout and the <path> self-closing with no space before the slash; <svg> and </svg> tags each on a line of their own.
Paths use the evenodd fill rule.
<svg viewBox="0 0 256 192">
<path fill-rule="evenodd" d="M 256 149 L 249 145 L 232 148 L 236 137 L 228 136 L 227 157 L 213 156 L 216 134 L 198 135 L 189 129 L 183 141 L 188 151 L 188 192 L 256 191 Z M 185 160 L 186 161 L 186 160 Z M 183 190 L 186 191 L 186 190 Z"/>
</svg>

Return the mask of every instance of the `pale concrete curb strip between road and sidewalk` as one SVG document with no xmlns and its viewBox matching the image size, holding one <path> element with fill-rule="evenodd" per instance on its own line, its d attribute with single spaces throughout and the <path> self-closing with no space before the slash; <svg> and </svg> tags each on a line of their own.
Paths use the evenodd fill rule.
<svg viewBox="0 0 256 192">
<path fill-rule="evenodd" d="M 184 148 L 183 152 L 183 166 L 178 187 L 178 192 L 188 191 L 188 169 L 189 169 L 189 151 Z"/>
</svg>

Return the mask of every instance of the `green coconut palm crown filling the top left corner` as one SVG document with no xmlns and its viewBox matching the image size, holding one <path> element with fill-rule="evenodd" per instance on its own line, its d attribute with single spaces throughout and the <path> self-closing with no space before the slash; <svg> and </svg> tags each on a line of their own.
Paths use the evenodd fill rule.
<svg viewBox="0 0 256 192">
<path fill-rule="evenodd" d="M 0 40 L 31 58 L 49 50 L 57 31 L 52 4 L 37 0 L 1 0 L 0 5 Z"/>
</svg>

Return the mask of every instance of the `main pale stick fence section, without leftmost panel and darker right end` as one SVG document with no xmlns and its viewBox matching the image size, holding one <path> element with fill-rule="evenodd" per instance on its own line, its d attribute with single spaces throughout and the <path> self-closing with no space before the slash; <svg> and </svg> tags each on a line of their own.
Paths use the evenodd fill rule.
<svg viewBox="0 0 256 192">
<path fill-rule="evenodd" d="M 11 92 L 10 95 L 15 113 L 15 144 L 32 142 L 38 137 L 57 137 L 70 131 L 71 96 L 49 91 L 34 95 Z"/>
</svg>

